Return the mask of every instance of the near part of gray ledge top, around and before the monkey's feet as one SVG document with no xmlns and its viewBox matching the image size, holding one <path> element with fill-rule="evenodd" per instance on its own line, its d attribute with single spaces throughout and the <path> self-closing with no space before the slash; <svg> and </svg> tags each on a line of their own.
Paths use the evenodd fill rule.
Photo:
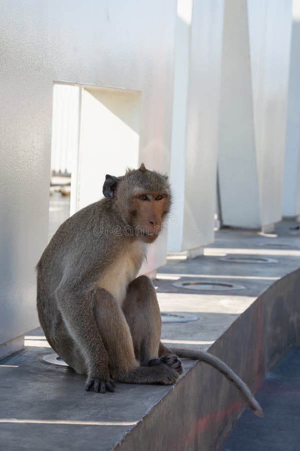
<svg viewBox="0 0 300 451">
<path fill-rule="evenodd" d="M 171 389 L 118 384 L 115 393 L 87 393 L 83 376 L 41 361 L 50 349 L 40 328 L 26 343 L 0 363 L 0 449 L 114 449 Z"/>
</svg>

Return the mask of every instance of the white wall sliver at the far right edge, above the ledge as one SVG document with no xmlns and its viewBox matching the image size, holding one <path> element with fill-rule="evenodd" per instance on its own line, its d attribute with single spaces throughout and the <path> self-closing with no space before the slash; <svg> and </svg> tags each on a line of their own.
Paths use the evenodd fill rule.
<svg viewBox="0 0 300 451">
<path fill-rule="evenodd" d="M 300 215 L 300 0 L 292 4 L 285 134 L 283 215 Z"/>
</svg>

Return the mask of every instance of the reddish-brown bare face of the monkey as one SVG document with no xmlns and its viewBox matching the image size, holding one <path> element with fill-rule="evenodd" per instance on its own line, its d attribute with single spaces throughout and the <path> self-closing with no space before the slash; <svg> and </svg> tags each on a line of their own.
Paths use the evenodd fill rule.
<svg viewBox="0 0 300 451">
<path fill-rule="evenodd" d="M 145 243 L 153 243 L 158 237 L 163 218 L 168 212 L 169 194 L 167 191 L 140 191 L 131 200 L 128 224 L 136 237 Z"/>
</svg>

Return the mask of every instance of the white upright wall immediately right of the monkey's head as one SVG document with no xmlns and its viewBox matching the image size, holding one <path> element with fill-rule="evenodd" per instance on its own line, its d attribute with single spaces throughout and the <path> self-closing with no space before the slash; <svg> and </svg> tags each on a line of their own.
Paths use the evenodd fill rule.
<svg viewBox="0 0 300 451">
<path fill-rule="evenodd" d="M 169 251 L 213 241 L 222 26 L 222 0 L 178 1 Z"/>
</svg>

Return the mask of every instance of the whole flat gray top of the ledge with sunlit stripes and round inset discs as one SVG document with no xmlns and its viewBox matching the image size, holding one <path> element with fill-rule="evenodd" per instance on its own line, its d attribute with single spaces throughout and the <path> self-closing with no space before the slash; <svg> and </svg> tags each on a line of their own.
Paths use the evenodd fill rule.
<svg viewBox="0 0 300 451">
<path fill-rule="evenodd" d="M 203 257 L 186 261 L 172 256 L 154 281 L 161 311 L 192 313 L 197 321 L 163 324 L 162 341 L 208 349 L 260 293 L 299 267 L 300 235 L 290 229 L 296 225 L 284 221 L 269 235 L 224 229 Z M 226 263 L 220 260 L 223 256 L 272 258 L 278 263 Z M 172 285 L 190 280 L 238 283 L 244 289 L 191 291 Z M 82 376 L 41 361 L 50 352 L 37 329 L 26 337 L 24 351 L 0 361 L 1 449 L 114 449 L 172 390 L 117 384 L 115 393 L 86 393 Z M 194 364 L 185 361 L 185 370 Z"/>
</svg>

